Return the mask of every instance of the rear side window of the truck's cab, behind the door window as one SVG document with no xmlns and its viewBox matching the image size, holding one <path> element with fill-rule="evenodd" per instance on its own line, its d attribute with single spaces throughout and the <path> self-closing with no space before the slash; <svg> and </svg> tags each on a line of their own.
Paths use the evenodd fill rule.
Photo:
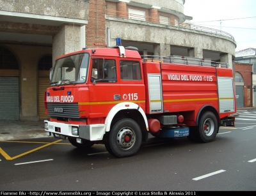
<svg viewBox="0 0 256 196">
<path fill-rule="evenodd" d="M 141 80 L 139 61 L 120 61 L 121 80 Z"/>
</svg>

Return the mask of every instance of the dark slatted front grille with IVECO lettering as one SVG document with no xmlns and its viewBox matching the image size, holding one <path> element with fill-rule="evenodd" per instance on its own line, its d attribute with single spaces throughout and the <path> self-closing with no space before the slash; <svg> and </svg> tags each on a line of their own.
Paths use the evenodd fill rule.
<svg viewBox="0 0 256 196">
<path fill-rule="evenodd" d="M 48 115 L 79 118 L 78 103 L 47 103 Z"/>
</svg>

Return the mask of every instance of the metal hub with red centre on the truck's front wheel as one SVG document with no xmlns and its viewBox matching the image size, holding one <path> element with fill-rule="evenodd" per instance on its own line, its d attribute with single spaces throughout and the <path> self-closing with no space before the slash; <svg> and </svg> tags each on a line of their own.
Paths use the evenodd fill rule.
<svg viewBox="0 0 256 196">
<path fill-rule="evenodd" d="M 116 137 L 116 140 L 120 147 L 128 149 L 134 145 L 135 134 L 132 130 L 124 128 L 120 130 Z"/>
</svg>

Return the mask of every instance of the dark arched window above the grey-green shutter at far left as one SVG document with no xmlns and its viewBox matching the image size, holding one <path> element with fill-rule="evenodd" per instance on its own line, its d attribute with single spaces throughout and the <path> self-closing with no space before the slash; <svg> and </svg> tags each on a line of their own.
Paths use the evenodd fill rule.
<svg viewBox="0 0 256 196">
<path fill-rule="evenodd" d="M 0 47 L 0 69 L 19 70 L 19 63 L 16 57 L 7 49 Z"/>
</svg>

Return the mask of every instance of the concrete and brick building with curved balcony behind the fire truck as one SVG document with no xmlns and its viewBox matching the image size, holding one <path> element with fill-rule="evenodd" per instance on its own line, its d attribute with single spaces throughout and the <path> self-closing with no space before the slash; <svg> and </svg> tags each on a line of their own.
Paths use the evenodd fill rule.
<svg viewBox="0 0 256 196">
<path fill-rule="evenodd" d="M 212 59 L 234 68 L 236 41 L 189 24 L 185 0 L 0 1 L 0 121 L 46 119 L 44 91 L 57 56 L 122 45 L 141 54 Z"/>
</svg>

